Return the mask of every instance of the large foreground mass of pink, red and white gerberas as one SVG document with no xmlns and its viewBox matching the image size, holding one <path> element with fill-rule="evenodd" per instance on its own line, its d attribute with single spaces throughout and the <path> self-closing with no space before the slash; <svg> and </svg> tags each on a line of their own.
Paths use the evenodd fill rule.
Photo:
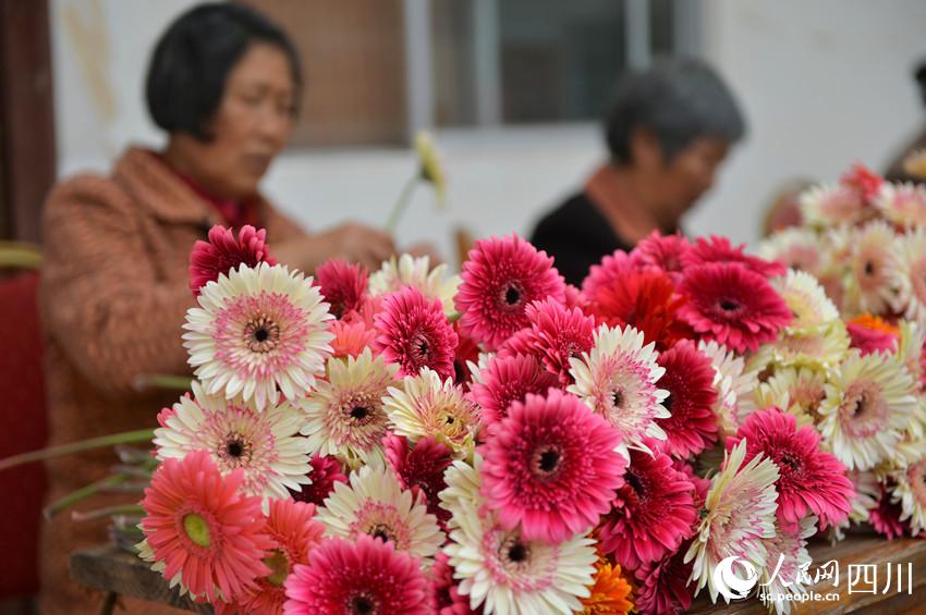
<svg viewBox="0 0 926 615">
<path fill-rule="evenodd" d="M 217 612 L 679 613 L 730 557 L 771 596 L 818 531 L 926 529 L 922 325 L 723 237 L 578 288 L 514 235 L 313 279 L 216 227 L 191 288 L 138 551 Z"/>
</svg>

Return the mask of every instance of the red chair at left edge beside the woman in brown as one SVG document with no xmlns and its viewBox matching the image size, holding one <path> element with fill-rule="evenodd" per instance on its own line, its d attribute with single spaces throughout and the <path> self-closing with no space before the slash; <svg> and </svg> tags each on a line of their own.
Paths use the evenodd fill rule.
<svg viewBox="0 0 926 615">
<path fill-rule="evenodd" d="M 34 255 L 37 267 L 37 251 Z M 0 268 L 2 261 L 0 258 Z M 22 260 L 17 263 L 27 265 Z M 11 263 L 8 260 L 5 265 Z M 4 274 L 12 276 L 0 278 L 0 458 L 41 448 L 48 439 L 36 300 L 38 272 L 0 271 Z M 38 592 L 38 539 L 46 485 L 41 464 L 0 471 L 0 602 Z"/>
</svg>

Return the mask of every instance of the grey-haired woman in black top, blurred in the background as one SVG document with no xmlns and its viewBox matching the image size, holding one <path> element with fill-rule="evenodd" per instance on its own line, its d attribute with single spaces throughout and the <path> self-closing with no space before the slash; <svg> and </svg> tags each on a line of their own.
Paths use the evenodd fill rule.
<svg viewBox="0 0 926 615">
<path fill-rule="evenodd" d="M 610 160 L 541 219 L 531 238 L 573 284 L 601 257 L 632 249 L 654 230 L 678 231 L 745 122 L 710 67 L 671 59 L 621 79 L 605 130 Z"/>
</svg>

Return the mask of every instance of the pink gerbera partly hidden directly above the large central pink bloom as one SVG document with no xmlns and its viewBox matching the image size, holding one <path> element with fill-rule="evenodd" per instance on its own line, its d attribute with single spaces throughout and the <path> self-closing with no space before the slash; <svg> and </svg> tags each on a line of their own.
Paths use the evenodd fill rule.
<svg viewBox="0 0 926 615">
<path fill-rule="evenodd" d="M 479 405 L 482 421 L 491 429 L 508 416 L 512 403 L 523 402 L 527 393 L 543 395 L 551 386 L 559 386 L 557 377 L 534 357 L 497 356 L 479 371 L 479 380 L 471 383 L 470 397 Z"/>
</svg>

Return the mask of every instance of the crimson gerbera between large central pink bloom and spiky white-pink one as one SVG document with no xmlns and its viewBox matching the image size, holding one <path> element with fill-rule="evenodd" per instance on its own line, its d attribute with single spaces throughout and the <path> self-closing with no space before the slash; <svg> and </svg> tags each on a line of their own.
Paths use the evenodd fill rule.
<svg viewBox="0 0 926 615">
<path fill-rule="evenodd" d="M 631 570 L 675 551 L 697 518 L 694 496 L 668 455 L 631 451 L 624 484 L 599 528 L 601 549 Z"/>
</svg>

